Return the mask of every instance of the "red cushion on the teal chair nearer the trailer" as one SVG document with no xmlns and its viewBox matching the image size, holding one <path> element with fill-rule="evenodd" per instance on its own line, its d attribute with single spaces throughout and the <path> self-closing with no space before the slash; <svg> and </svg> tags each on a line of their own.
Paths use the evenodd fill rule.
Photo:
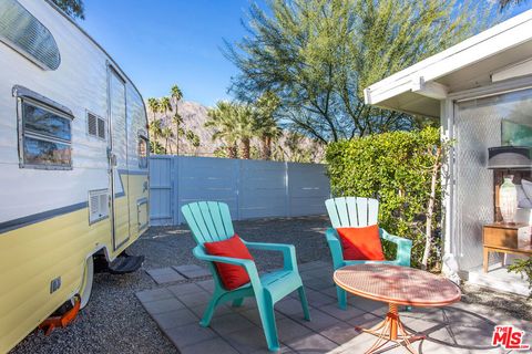
<svg viewBox="0 0 532 354">
<path fill-rule="evenodd" d="M 203 246 L 207 253 L 212 256 L 253 260 L 253 256 L 247 250 L 246 244 L 236 233 L 227 240 L 205 242 Z M 218 270 L 218 275 L 225 289 L 233 290 L 249 282 L 249 275 L 247 275 L 244 267 L 221 262 L 214 262 L 214 264 Z"/>
</svg>

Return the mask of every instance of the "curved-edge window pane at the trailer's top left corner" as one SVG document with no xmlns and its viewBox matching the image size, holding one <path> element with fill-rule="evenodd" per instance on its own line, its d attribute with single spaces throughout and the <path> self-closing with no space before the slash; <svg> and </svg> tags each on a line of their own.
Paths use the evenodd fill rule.
<svg viewBox="0 0 532 354">
<path fill-rule="evenodd" d="M 52 33 L 16 0 L 0 1 L 0 40 L 50 70 L 61 63 Z"/>
</svg>

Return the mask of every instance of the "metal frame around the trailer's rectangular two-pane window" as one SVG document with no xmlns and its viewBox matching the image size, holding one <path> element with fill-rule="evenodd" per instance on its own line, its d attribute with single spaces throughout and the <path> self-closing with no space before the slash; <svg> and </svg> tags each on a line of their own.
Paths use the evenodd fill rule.
<svg viewBox="0 0 532 354">
<path fill-rule="evenodd" d="M 20 168 L 33 168 L 33 169 L 47 169 L 47 170 L 71 170 L 72 169 L 72 153 L 73 153 L 73 136 L 72 136 L 72 122 L 74 115 L 65 106 L 51 101 L 29 88 L 22 86 L 13 87 L 13 96 L 17 98 L 17 127 L 18 127 L 18 139 L 19 139 L 19 167 Z M 29 104 L 31 106 L 45 110 L 47 112 L 53 113 L 54 115 L 60 116 L 61 118 L 66 119 L 70 128 L 70 140 L 61 139 L 57 137 L 51 137 L 44 134 L 25 132 L 24 126 L 24 116 L 23 116 L 23 104 Z M 24 154 L 24 140 L 25 137 L 39 139 L 43 142 L 59 143 L 68 145 L 70 149 L 70 158 L 68 165 L 57 165 L 57 164 L 32 164 L 28 163 Z"/>
</svg>

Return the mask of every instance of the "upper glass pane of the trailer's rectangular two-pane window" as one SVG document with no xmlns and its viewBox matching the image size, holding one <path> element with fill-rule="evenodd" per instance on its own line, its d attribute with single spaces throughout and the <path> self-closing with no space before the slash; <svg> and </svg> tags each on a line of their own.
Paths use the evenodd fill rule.
<svg viewBox="0 0 532 354">
<path fill-rule="evenodd" d="M 24 129 L 51 137 L 70 140 L 70 118 L 59 116 L 44 108 L 22 104 Z"/>
</svg>

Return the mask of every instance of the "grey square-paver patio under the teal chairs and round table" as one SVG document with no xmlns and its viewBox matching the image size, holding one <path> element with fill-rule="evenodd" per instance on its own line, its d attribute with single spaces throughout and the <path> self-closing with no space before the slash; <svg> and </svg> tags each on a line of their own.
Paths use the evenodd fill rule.
<svg viewBox="0 0 532 354">
<path fill-rule="evenodd" d="M 195 268 L 172 268 L 195 272 Z M 348 298 L 348 310 L 338 309 L 331 266 L 318 261 L 301 264 L 311 321 L 305 321 L 297 293 L 277 302 L 276 323 L 282 353 L 361 353 L 376 340 L 356 325 L 371 327 L 382 321 L 388 306 L 357 296 Z M 327 275 L 328 274 L 328 275 Z M 308 285 L 307 285 L 308 283 Z M 268 353 L 254 299 L 241 308 L 221 305 L 208 329 L 198 322 L 211 299 L 213 280 L 190 280 L 137 293 L 144 309 L 181 353 Z M 494 324 L 512 319 L 475 304 L 458 303 L 439 309 L 401 312 L 405 326 L 427 334 L 415 347 L 422 353 L 500 353 L 491 347 Z M 514 320 L 515 325 L 523 324 Z M 528 329 L 526 329 L 528 330 Z M 382 353 L 402 353 L 391 347 Z"/>
</svg>

